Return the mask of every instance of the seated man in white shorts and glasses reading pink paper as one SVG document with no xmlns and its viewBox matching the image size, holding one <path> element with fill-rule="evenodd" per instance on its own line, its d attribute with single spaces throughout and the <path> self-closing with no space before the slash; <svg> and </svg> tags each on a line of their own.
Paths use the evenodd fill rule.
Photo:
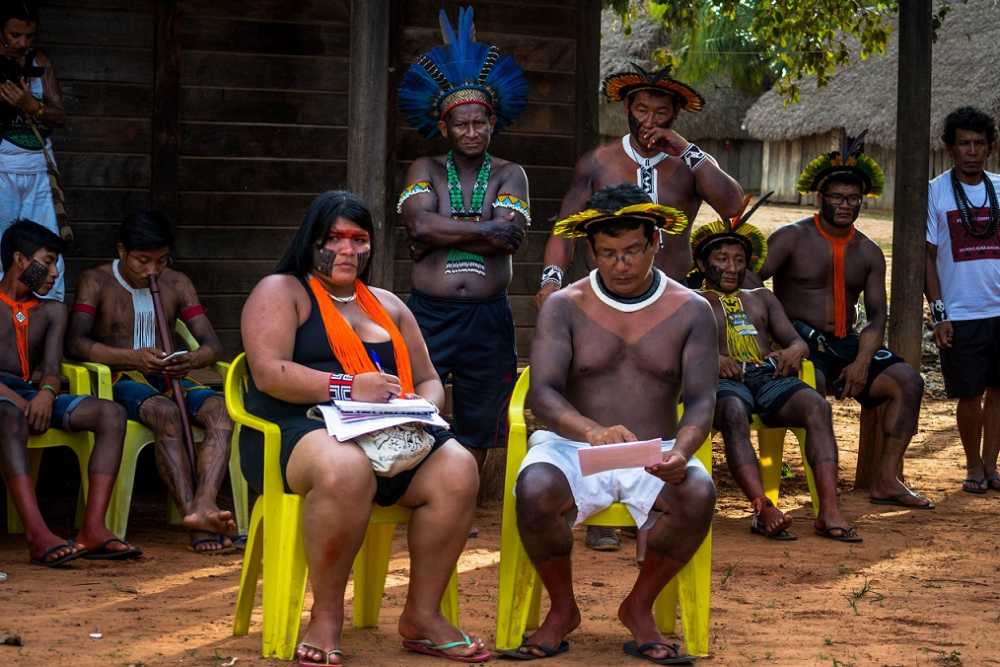
<svg viewBox="0 0 1000 667">
<path fill-rule="evenodd" d="M 680 655 L 657 630 L 652 607 L 712 520 L 715 487 L 694 454 L 711 427 L 719 370 L 712 309 L 653 267 L 661 231 L 686 225 L 683 213 L 627 184 L 598 191 L 586 210 L 554 227 L 586 236 L 597 268 L 546 299 L 532 345 L 528 402 L 552 430 L 532 435 L 515 495 L 521 540 L 552 604 L 511 657 L 568 649 L 564 638 L 580 624 L 570 526 L 615 501 L 648 530 L 639 576 L 618 609 L 635 639 L 625 651 L 652 661 Z M 581 470 L 589 447 L 650 439 L 662 450 L 652 461 L 639 446 L 616 469 Z"/>
</svg>

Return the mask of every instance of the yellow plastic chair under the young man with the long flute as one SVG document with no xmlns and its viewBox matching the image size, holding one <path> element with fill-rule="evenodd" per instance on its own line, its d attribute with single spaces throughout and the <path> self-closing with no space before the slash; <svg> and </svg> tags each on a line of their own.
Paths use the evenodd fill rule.
<svg viewBox="0 0 1000 667">
<path fill-rule="evenodd" d="M 198 341 L 191 335 L 187 326 L 177 320 L 175 331 L 185 342 L 190 350 L 198 349 Z M 96 385 L 96 396 L 107 400 L 114 400 L 111 386 L 111 369 L 104 364 L 91 361 L 76 362 L 80 367 L 93 374 Z M 229 370 L 229 364 L 223 361 L 215 363 L 215 371 L 220 377 L 225 378 Z M 199 428 L 194 428 L 194 438 L 196 441 L 204 438 L 204 432 Z M 115 480 L 115 487 L 111 493 L 111 501 L 108 503 L 108 513 L 106 522 L 108 529 L 121 539 L 125 539 L 128 530 L 128 515 L 132 507 L 132 491 L 135 485 L 135 469 L 139 461 L 139 454 L 149 444 L 155 442 L 153 431 L 145 424 L 134 420 L 128 420 L 125 429 L 125 445 L 122 449 L 122 462 L 118 469 L 118 478 Z M 229 454 L 229 478 L 232 485 L 233 505 L 235 507 L 236 525 L 241 534 L 246 534 L 248 527 L 248 501 L 247 485 L 240 472 L 239 459 L 239 430 L 233 429 L 233 437 L 230 441 Z M 172 498 L 167 499 L 167 516 L 170 523 L 180 523 L 181 516 Z"/>
</svg>

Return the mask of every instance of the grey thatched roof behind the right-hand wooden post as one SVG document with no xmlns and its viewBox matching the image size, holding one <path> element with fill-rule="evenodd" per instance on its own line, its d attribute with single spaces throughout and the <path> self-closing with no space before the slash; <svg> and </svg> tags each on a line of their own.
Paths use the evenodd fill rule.
<svg viewBox="0 0 1000 667">
<path fill-rule="evenodd" d="M 938 5 L 939 3 L 935 3 Z M 933 47 L 931 145 L 938 146 L 944 117 L 972 105 L 1000 115 L 1000 6 L 994 0 L 954 3 Z M 801 101 L 785 106 L 769 91 L 750 108 L 744 127 L 766 141 L 790 140 L 845 127 L 867 141 L 896 144 L 896 81 L 899 62 L 895 31 L 884 56 L 855 61 L 823 88 L 804 82 Z"/>
</svg>

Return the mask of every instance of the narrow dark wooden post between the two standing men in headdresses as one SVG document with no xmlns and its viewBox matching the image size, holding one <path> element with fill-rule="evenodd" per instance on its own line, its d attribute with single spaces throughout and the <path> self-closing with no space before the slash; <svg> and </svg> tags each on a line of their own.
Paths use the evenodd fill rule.
<svg viewBox="0 0 1000 667">
<path fill-rule="evenodd" d="M 601 0 L 576 4 L 576 156 L 597 146 L 601 82 Z"/>
</svg>

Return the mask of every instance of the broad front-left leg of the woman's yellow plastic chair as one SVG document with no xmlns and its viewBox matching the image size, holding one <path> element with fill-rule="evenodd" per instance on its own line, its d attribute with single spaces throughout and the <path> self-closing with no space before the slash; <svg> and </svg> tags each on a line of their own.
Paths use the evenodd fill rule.
<svg viewBox="0 0 1000 667">
<path fill-rule="evenodd" d="M 280 526 L 265 527 L 262 654 L 291 660 L 302 622 L 309 565 L 302 534 L 302 502 L 285 495 Z M 273 542 L 272 542 L 273 540 Z"/>
</svg>

